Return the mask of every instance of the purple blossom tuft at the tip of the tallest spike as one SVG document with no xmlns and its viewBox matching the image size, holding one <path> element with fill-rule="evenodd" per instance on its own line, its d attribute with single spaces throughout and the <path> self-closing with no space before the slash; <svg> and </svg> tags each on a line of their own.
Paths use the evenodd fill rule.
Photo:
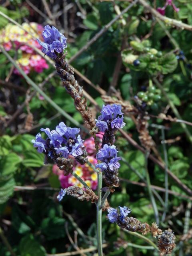
<svg viewBox="0 0 192 256">
<path fill-rule="evenodd" d="M 65 48 L 67 48 L 67 38 L 54 26 L 50 27 L 49 25 L 46 25 L 42 36 L 44 42 L 40 42 L 38 39 L 37 41 L 42 46 L 42 52 L 50 58 L 56 57 L 55 52 L 61 53 Z"/>
</svg>

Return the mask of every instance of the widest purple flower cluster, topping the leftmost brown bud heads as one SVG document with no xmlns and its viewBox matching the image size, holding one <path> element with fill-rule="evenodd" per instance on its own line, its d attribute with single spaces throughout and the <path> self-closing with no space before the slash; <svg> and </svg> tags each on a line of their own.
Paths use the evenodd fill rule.
<svg viewBox="0 0 192 256">
<path fill-rule="evenodd" d="M 52 157 L 52 154 L 56 151 L 64 158 L 68 158 L 69 155 L 78 157 L 83 154 L 84 140 L 78 134 L 80 128 L 67 127 L 64 122 L 60 122 L 55 130 L 50 131 L 49 128 L 41 128 L 40 130 L 45 132 L 48 137 L 44 140 L 41 134 L 38 133 L 36 139 L 32 140 L 39 153 L 45 152 Z"/>
</svg>

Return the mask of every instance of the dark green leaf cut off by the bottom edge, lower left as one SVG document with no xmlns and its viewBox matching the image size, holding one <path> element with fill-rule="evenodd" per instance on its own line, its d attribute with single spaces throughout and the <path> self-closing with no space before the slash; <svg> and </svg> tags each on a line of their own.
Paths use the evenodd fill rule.
<svg viewBox="0 0 192 256">
<path fill-rule="evenodd" d="M 19 244 L 20 256 L 46 256 L 46 251 L 32 234 L 24 236 Z"/>
</svg>

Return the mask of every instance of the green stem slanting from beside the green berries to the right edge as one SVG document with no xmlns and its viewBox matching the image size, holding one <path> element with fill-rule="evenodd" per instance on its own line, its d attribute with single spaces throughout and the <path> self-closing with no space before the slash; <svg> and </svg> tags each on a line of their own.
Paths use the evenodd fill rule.
<svg viewBox="0 0 192 256">
<path fill-rule="evenodd" d="M 170 98 L 168 97 L 168 95 L 166 94 L 166 91 L 164 90 L 163 86 L 160 84 L 160 82 L 158 82 L 158 80 L 156 78 L 153 78 L 153 81 L 155 82 L 155 84 L 158 86 L 158 88 L 160 88 L 160 90 L 162 91 L 162 94 L 165 96 L 168 104 L 170 105 L 172 111 L 174 112 L 175 116 L 178 119 L 182 119 L 182 117 L 180 116 L 177 108 L 175 107 L 174 103 L 172 102 L 172 100 L 170 100 Z M 190 131 L 188 130 L 186 124 L 184 123 L 180 123 L 181 127 L 183 128 L 183 130 L 185 131 L 188 139 L 190 140 L 190 142 L 192 143 L 192 135 L 190 134 Z"/>
</svg>

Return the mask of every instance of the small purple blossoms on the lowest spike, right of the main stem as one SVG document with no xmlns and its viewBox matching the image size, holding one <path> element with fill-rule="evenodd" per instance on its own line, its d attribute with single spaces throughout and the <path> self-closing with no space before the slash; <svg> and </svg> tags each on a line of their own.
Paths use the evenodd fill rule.
<svg viewBox="0 0 192 256">
<path fill-rule="evenodd" d="M 109 208 L 108 209 L 108 220 L 109 222 L 111 223 L 114 223 L 114 222 L 124 222 L 124 218 L 126 218 L 128 216 L 128 214 L 131 212 L 131 210 L 127 207 L 127 206 L 119 206 L 119 209 L 120 209 L 120 213 L 118 213 L 118 210 L 115 209 L 115 208 Z"/>
</svg>

